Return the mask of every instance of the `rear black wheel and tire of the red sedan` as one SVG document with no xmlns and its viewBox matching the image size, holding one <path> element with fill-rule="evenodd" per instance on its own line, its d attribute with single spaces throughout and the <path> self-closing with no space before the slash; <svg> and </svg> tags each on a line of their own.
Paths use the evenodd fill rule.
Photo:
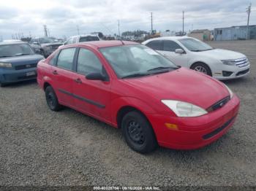
<svg viewBox="0 0 256 191">
<path fill-rule="evenodd" d="M 58 98 L 53 90 L 53 87 L 48 86 L 45 88 L 45 99 L 49 108 L 55 112 L 61 109 Z"/>
</svg>

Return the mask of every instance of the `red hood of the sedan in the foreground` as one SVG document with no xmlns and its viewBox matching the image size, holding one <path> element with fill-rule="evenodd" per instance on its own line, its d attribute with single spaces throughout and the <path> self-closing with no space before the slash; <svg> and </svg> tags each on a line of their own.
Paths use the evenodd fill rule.
<svg viewBox="0 0 256 191">
<path fill-rule="evenodd" d="M 142 93 L 162 99 L 185 101 L 207 109 L 229 95 L 222 82 L 190 69 L 125 79 Z"/>
</svg>

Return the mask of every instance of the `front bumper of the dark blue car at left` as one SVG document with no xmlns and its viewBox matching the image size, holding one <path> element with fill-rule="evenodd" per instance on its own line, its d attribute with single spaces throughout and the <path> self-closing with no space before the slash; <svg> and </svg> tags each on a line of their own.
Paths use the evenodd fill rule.
<svg viewBox="0 0 256 191">
<path fill-rule="evenodd" d="M 34 73 L 34 74 L 29 74 Z M 15 69 L 0 69 L 0 82 L 9 84 L 13 82 L 21 82 L 29 79 L 37 78 L 37 68 L 15 70 Z"/>
</svg>

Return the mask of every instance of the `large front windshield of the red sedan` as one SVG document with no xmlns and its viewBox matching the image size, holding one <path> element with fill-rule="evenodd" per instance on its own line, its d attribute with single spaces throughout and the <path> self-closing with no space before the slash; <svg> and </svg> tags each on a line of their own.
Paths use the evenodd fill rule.
<svg viewBox="0 0 256 191">
<path fill-rule="evenodd" d="M 159 53 L 143 45 L 101 48 L 119 78 L 140 77 L 178 69 Z"/>
</svg>

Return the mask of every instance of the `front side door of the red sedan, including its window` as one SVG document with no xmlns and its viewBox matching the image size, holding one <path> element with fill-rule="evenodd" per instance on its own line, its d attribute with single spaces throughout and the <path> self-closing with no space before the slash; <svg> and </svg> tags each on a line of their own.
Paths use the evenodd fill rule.
<svg viewBox="0 0 256 191">
<path fill-rule="evenodd" d="M 89 80 L 90 73 L 104 73 L 102 61 L 92 50 L 80 48 L 76 61 L 77 73 L 73 76 L 75 106 L 99 119 L 110 121 L 110 80 Z"/>
</svg>

